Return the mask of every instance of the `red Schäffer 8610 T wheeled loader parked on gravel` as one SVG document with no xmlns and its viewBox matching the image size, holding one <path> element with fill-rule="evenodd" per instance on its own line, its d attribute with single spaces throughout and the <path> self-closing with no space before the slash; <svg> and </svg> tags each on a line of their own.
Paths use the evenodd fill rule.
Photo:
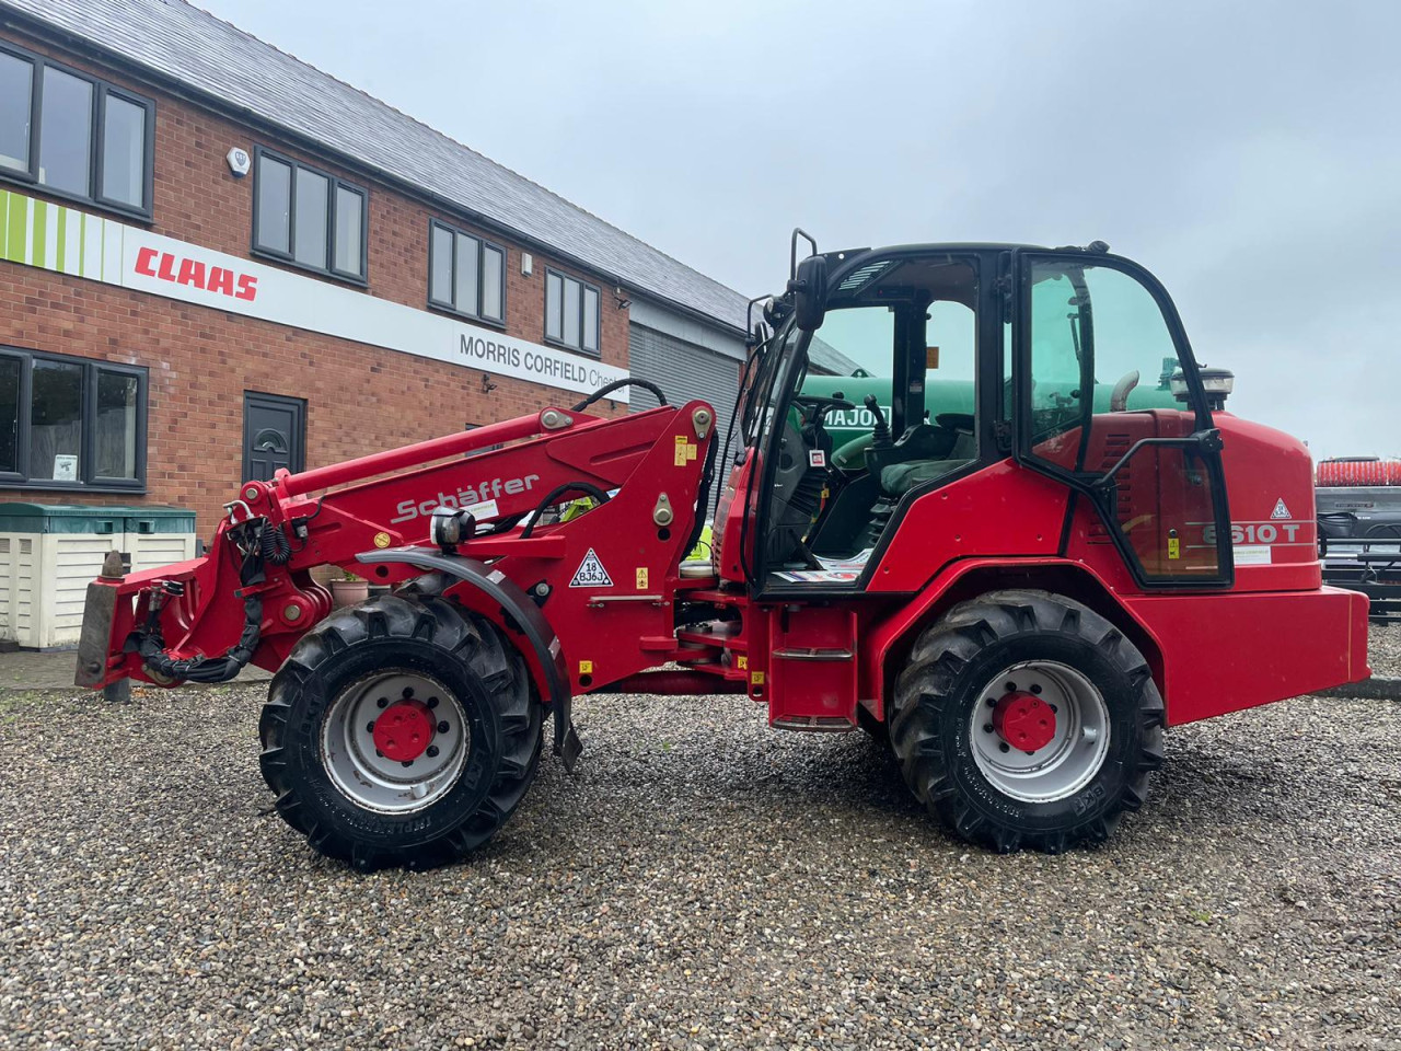
<svg viewBox="0 0 1401 1051">
<path fill-rule="evenodd" d="M 276 809 L 368 870 L 486 842 L 546 724 L 574 767 L 590 692 L 863 727 L 957 835 L 1056 852 L 1143 803 L 1167 726 L 1369 674 L 1366 598 L 1321 584 L 1309 453 L 1224 411 L 1143 268 L 1103 242 L 799 261 L 800 234 L 727 427 L 632 380 L 658 408 L 600 418 L 604 388 L 248 482 L 203 558 L 90 586 L 78 684 L 275 670 Z M 824 416 L 857 406 L 804 388 L 814 338 L 890 377 L 839 450 Z M 948 370 L 965 411 L 930 419 Z M 333 611 L 328 565 L 394 590 Z"/>
</svg>

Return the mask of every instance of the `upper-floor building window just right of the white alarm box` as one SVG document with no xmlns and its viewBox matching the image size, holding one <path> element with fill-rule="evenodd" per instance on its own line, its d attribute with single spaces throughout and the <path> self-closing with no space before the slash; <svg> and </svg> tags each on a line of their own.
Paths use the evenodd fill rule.
<svg viewBox="0 0 1401 1051">
<path fill-rule="evenodd" d="M 360 186 L 258 150 L 254 252 L 364 283 L 367 205 Z"/>
</svg>

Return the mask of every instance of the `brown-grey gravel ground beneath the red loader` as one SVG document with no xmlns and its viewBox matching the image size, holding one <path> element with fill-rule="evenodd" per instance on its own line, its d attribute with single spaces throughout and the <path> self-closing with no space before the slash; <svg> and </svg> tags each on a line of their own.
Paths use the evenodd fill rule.
<svg viewBox="0 0 1401 1051">
<path fill-rule="evenodd" d="M 261 695 L 0 699 L 6 1047 L 1401 1047 L 1401 705 L 1182 727 L 1110 845 L 998 858 L 864 734 L 586 699 L 474 863 L 360 877 Z"/>
</svg>

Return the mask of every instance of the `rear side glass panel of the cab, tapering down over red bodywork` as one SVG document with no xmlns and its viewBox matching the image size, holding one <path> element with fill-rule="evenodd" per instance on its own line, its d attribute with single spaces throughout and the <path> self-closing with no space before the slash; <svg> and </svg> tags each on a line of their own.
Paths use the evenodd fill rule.
<svg viewBox="0 0 1401 1051">
<path fill-rule="evenodd" d="M 1230 586 L 1220 434 L 1166 290 L 1103 252 L 1013 269 L 1017 460 L 1093 502 L 1142 587 Z"/>
</svg>

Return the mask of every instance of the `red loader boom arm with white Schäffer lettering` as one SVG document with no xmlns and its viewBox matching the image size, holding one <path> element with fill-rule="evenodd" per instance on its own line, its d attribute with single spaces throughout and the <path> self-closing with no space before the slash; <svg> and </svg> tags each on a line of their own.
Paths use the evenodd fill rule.
<svg viewBox="0 0 1401 1051">
<path fill-rule="evenodd" d="M 312 569 L 335 566 L 395 586 L 422 575 L 434 556 L 489 563 L 537 608 L 548 604 L 546 642 L 588 654 L 586 685 L 623 678 L 653 664 L 657 639 L 671 631 L 713 423 L 703 402 L 621 419 L 548 408 L 248 482 L 202 558 L 90 584 L 78 684 L 221 680 L 248 661 L 276 670 L 331 612 L 331 596 Z M 544 506 L 588 490 L 615 495 L 572 521 L 538 521 Z M 475 524 L 451 552 L 429 540 L 432 511 L 440 507 L 467 511 Z M 503 626 L 521 615 L 481 590 L 464 601 Z M 591 640 L 598 631 L 611 639 L 607 652 Z M 650 649 L 616 645 L 626 638 L 650 639 Z M 539 656 L 531 664 L 541 696 L 556 694 Z"/>
</svg>

